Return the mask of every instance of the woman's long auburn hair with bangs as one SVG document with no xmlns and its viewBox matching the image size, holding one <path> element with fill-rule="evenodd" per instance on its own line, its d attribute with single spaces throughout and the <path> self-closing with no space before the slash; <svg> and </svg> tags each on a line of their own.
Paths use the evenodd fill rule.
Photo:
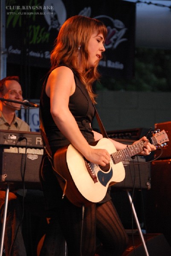
<svg viewBox="0 0 171 256">
<path fill-rule="evenodd" d="M 54 49 L 51 52 L 51 70 L 59 64 L 66 64 L 72 67 L 78 74 L 82 83 L 85 85 L 90 98 L 95 103 L 95 94 L 92 84 L 99 79 L 97 66 L 89 66 L 88 42 L 93 32 L 102 34 L 104 39 L 107 36 L 107 28 L 100 20 L 84 17 L 81 15 L 72 16 L 61 26 L 59 34 L 55 40 Z M 80 73 L 78 63 L 78 47 L 81 54 L 81 64 L 83 72 Z"/>
</svg>

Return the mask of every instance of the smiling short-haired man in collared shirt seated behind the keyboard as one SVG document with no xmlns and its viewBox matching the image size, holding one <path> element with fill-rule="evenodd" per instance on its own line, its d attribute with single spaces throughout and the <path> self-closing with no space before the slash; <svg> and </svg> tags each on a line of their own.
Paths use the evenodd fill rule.
<svg viewBox="0 0 171 256">
<path fill-rule="evenodd" d="M 19 102 L 23 101 L 22 89 L 17 76 L 8 76 L 0 80 L 0 98 Z M 29 125 L 18 118 L 15 114 L 15 111 L 20 110 L 20 108 L 21 105 L 19 103 L 0 100 L 0 130 L 30 131 Z M 34 211 L 39 207 L 40 212 L 43 213 L 43 192 L 40 190 L 27 190 L 25 194 L 24 202 L 28 202 L 30 210 Z M 1 224 L 3 221 L 5 195 L 6 192 L 4 190 L 0 190 Z M 4 236 L 5 254 L 8 256 L 26 256 L 26 247 L 23 240 L 21 226 L 23 218 L 22 198 L 23 190 L 21 189 L 15 192 L 9 192 Z M 35 204 L 37 205 L 35 206 Z"/>
</svg>

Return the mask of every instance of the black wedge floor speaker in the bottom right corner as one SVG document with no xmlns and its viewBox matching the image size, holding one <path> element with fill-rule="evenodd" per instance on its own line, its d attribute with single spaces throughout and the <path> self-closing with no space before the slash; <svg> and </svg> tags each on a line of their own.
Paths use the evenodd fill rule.
<svg viewBox="0 0 171 256">
<path fill-rule="evenodd" d="M 163 234 L 144 235 L 145 244 L 150 256 L 171 256 L 171 247 Z M 129 245 L 122 256 L 145 256 L 145 248 L 139 234 L 129 235 Z"/>
</svg>

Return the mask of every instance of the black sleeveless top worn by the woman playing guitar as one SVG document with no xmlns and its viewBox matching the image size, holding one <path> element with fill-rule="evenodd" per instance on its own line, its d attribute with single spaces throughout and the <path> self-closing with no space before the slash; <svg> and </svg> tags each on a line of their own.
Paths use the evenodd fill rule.
<svg viewBox="0 0 171 256">
<path fill-rule="evenodd" d="M 87 92 L 87 89 L 85 88 L 85 85 L 81 83 L 75 71 L 72 70 L 72 72 L 74 74 L 76 86 L 75 92 L 70 96 L 69 99 L 69 109 L 74 116 L 84 138 L 87 140 L 88 143 L 91 143 L 94 141 L 94 136 L 92 128 L 90 127 L 90 123 L 95 116 L 95 108 Z M 58 129 L 50 113 L 50 98 L 46 95 L 45 92 L 47 79 L 48 76 L 46 77 L 42 87 L 40 108 L 46 136 L 49 141 L 52 154 L 55 154 L 55 151 L 58 148 L 69 145 L 70 142 Z"/>
</svg>

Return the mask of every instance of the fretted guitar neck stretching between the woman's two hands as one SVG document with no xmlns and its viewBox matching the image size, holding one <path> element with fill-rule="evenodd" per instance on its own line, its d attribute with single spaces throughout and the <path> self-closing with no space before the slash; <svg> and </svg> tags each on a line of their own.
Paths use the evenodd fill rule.
<svg viewBox="0 0 171 256">
<path fill-rule="evenodd" d="M 134 156 L 135 154 L 139 154 L 143 150 L 144 144 L 145 142 L 141 141 L 139 143 L 130 145 L 127 148 L 124 148 L 111 154 L 111 158 L 114 163 L 120 163 L 128 159 L 129 157 Z"/>
</svg>

